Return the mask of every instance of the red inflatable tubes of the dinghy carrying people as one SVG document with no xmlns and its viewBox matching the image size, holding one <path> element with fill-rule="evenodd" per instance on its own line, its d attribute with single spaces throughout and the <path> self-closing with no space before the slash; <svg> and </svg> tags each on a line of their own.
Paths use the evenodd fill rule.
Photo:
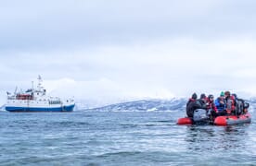
<svg viewBox="0 0 256 166">
<path fill-rule="evenodd" d="M 213 125 L 236 125 L 236 124 L 246 124 L 251 122 L 250 113 L 240 114 L 240 115 L 224 115 L 218 116 L 213 122 L 209 120 L 209 124 Z M 191 118 L 184 117 L 179 118 L 177 125 L 193 125 Z"/>
</svg>

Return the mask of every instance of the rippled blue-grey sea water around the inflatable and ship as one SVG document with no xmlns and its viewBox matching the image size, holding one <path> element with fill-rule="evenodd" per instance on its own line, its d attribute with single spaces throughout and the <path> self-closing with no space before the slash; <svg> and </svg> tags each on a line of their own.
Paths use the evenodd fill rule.
<svg viewBox="0 0 256 166">
<path fill-rule="evenodd" d="M 176 125 L 185 112 L 0 112 L 0 165 L 256 165 L 256 124 Z"/>
</svg>

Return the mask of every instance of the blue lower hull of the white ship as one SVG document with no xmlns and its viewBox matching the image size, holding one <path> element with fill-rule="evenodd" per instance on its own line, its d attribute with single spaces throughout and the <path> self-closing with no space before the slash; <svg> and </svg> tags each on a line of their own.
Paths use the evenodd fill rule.
<svg viewBox="0 0 256 166">
<path fill-rule="evenodd" d="M 72 112 L 73 105 L 57 108 L 36 108 L 36 107 L 6 107 L 8 112 Z"/>
</svg>

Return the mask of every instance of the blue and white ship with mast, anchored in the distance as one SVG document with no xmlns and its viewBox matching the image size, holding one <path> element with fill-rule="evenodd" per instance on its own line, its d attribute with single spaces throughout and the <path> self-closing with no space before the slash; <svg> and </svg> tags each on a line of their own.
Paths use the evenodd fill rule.
<svg viewBox="0 0 256 166">
<path fill-rule="evenodd" d="M 46 96 L 42 86 L 42 78 L 38 77 L 36 89 L 27 89 L 26 92 L 7 92 L 6 111 L 8 112 L 72 112 L 75 106 L 73 98 L 61 100 L 58 97 Z"/>
</svg>

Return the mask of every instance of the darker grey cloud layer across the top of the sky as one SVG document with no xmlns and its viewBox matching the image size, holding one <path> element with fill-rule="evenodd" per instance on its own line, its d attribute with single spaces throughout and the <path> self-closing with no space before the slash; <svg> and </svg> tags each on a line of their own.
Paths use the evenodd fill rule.
<svg viewBox="0 0 256 166">
<path fill-rule="evenodd" d="M 8 1 L 1 50 L 52 50 L 190 37 L 255 36 L 253 1 Z M 237 7 L 239 6 L 239 7 Z"/>
</svg>

